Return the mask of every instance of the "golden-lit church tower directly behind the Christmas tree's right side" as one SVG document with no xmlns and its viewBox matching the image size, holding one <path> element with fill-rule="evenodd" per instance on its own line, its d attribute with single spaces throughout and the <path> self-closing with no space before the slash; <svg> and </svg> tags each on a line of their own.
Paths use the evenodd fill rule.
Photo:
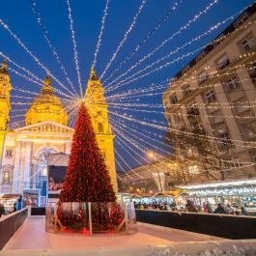
<svg viewBox="0 0 256 256">
<path fill-rule="evenodd" d="M 90 79 L 85 92 L 86 105 L 90 113 L 100 152 L 105 159 L 111 183 L 117 192 L 117 176 L 114 156 L 114 135 L 108 122 L 107 103 L 104 89 L 97 77 L 96 71 L 91 70 Z"/>
</svg>

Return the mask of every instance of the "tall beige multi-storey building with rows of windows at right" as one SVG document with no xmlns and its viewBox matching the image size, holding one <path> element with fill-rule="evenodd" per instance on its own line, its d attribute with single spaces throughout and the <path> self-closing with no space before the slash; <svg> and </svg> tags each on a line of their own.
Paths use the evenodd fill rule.
<svg viewBox="0 0 256 256">
<path fill-rule="evenodd" d="M 179 71 L 163 94 L 171 134 L 193 138 L 191 145 L 196 145 L 196 140 L 207 141 L 202 147 L 209 147 L 213 161 L 219 161 L 218 167 L 212 166 L 208 172 L 210 156 L 193 146 L 181 151 L 178 145 L 177 156 L 182 161 L 194 156 L 192 166 L 197 166 L 197 160 L 201 168 L 195 171 L 186 166 L 186 172 L 194 178 L 207 174 L 194 181 L 256 176 L 255 49 L 253 4 Z"/>
</svg>

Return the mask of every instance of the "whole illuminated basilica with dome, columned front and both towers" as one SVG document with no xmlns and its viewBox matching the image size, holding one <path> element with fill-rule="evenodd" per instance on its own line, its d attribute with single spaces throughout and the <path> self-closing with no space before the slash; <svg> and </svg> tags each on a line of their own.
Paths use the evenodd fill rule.
<svg viewBox="0 0 256 256">
<path fill-rule="evenodd" d="M 62 101 L 55 96 L 46 76 L 41 92 L 25 114 L 25 127 L 10 130 L 12 84 L 8 64 L 0 68 L 0 194 L 22 194 L 24 189 L 42 189 L 47 176 L 49 154 L 71 153 L 73 128 Z M 112 185 L 117 191 L 114 135 L 108 122 L 104 90 L 95 70 L 91 71 L 85 93 L 100 152 L 105 159 Z"/>
</svg>

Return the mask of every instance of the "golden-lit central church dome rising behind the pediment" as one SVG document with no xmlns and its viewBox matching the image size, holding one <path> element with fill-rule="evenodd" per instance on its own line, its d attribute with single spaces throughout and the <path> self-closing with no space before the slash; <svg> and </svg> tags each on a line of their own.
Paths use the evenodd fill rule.
<svg viewBox="0 0 256 256">
<path fill-rule="evenodd" d="M 41 93 L 35 98 L 26 112 L 26 126 L 45 121 L 53 121 L 68 126 L 69 117 L 62 106 L 61 100 L 54 95 L 51 79 L 47 75 L 43 80 Z"/>
</svg>

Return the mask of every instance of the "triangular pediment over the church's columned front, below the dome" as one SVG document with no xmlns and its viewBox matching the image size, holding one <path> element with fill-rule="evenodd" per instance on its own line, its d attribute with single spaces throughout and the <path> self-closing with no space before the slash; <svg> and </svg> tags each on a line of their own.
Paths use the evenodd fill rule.
<svg viewBox="0 0 256 256">
<path fill-rule="evenodd" d="M 58 132 L 58 133 L 73 133 L 73 128 L 69 128 L 52 121 L 42 122 L 36 125 L 23 128 L 15 128 L 15 132 Z"/>
</svg>

